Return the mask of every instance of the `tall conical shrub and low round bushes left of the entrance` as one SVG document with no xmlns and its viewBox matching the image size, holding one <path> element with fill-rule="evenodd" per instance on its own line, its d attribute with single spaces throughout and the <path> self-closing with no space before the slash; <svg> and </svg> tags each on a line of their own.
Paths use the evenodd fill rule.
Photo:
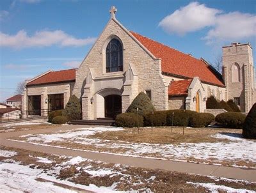
<svg viewBox="0 0 256 193">
<path fill-rule="evenodd" d="M 71 120 L 81 120 L 81 104 L 75 95 L 70 97 L 65 109 L 52 111 L 48 114 L 50 123 L 64 124 Z"/>
</svg>

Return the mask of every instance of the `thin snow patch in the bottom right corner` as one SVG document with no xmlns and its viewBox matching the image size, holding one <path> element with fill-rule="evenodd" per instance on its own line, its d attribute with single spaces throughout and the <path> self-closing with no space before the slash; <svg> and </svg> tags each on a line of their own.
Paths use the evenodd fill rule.
<svg viewBox="0 0 256 193">
<path fill-rule="evenodd" d="M 246 189 L 233 189 L 230 187 L 226 187 L 225 185 L 216 185 L 215 183 L 194 183 L 191 181 L 187 181 L 187 183 L 195 185 L 195 187 L 202 186 L 205 189 L 209 189 L 213 193 L 218 193 L 218 190 L 227 191 L 227 192 L 239 192 L 239 193 L 253 193 L 252 190 Z"/>
</svg>

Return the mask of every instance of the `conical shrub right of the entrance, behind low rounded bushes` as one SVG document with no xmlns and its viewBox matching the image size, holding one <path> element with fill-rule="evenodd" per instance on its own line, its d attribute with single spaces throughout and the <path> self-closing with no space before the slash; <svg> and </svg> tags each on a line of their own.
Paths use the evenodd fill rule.
<svg viewBox="0 0 256 193">
<path fill-rule="evenodd" d="M 126 112 L 137 113 L 137 108 L 141 115 L 152 114 L 152 112 L 156 111 L 150 98 L 148 98 L 148 96 L 143 92 L 139 93 L 139 95 L 134 98 Z"/>
</svg>

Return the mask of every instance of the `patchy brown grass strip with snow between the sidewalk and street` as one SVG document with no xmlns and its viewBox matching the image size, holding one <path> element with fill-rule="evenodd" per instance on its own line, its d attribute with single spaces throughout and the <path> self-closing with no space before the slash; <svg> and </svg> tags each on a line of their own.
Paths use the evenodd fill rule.
<svg viewBox="0 0 256 193">
<path fill-rule="evenodd" d="M 137 190 L 145 192 L 210 192 L 202 186 L 195 187 L 193 183 L 213 183 L 214 185 L 224 185 L 234 189 L 256 190 L 256 183 L 243 180 L 228 180 L 223 178 L 213 178 L 209 176 L 199 176 L 186 173 L 174 173 L 159 169 L 143 169 L 140 167 L 122 166 L 119 164 L 108 164 L 93 160 L 85 160 L 78 164 L 63 165 L 70 160 L 67 157 L 38 153 L 35 151 L 20 150 L 16 148 L 0 147 L 1 150 L 16 151 L 18 155 L 5 158 L 2 162 L 12 159 L 31 168 L 44 168 L 44 172 L 82 185 L 94 184 L 98 187 L 111 187 L 115 190 Z M 36 162 L 36 157 L 44 157 L 52 160 L 52 164 Z M 58 168 L 58 170 L 56 170 Z M 56 170 L 56 173 L 49 171 Z M 65 172 L 63 172 L 65 171 Z M 105 174 L 96 174 L 99 171 L 110 171 Z M 94 173 L 94 174 L 92 174 Z M 225 192 L 220 190 L 220 192 Z"/>
</svg>

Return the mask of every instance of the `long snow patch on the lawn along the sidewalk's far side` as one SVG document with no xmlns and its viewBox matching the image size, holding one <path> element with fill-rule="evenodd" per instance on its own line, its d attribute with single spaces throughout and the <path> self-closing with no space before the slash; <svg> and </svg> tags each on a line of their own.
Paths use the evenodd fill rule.
<svg viewBox="0 0 256 193">
<path fill-rule="evenodd" d="M 180 143 L 180 144 L 149 144 L 129 143 L 125 141 L 109 141 L 89 138 L 97 132 L 122 130 L 115 127 L 79 128 L 58 134 L 23 135 L 29 143 L 51 143 L 54 141 L 67 141 L 70 144 L 83 144 L 95 148 L 122 149 L 122 155 L 133 157 L 157 157 L 171 160 L 184 160 L 196 158 L 199 160 L 215 160 L 215 164 L 223 160 L 243 160 L 256 162 L 256 141 L 241 138 L 241 134 L 220 133 L 213 135 L 218 139 L 228 139 L 228 142 L 216 143 Z M 42 143 L 44 141 L 44 143 Z M 49 144 L 51 146 L 51 144 Z M 56 145 L 58 146 L 58 145 Z M 59 147 L 59 146 L 58 146 Z M 65 148 L 65 147 L 64 147 Z M 71 148 L 72 149 L 72 148 Z M 95 150 L 94 152 L 97 152 Z M 113 153 L 119 155 L 120 153 Z M 157 155 L 157 156 L 156 156 Z"/>
</svg>

